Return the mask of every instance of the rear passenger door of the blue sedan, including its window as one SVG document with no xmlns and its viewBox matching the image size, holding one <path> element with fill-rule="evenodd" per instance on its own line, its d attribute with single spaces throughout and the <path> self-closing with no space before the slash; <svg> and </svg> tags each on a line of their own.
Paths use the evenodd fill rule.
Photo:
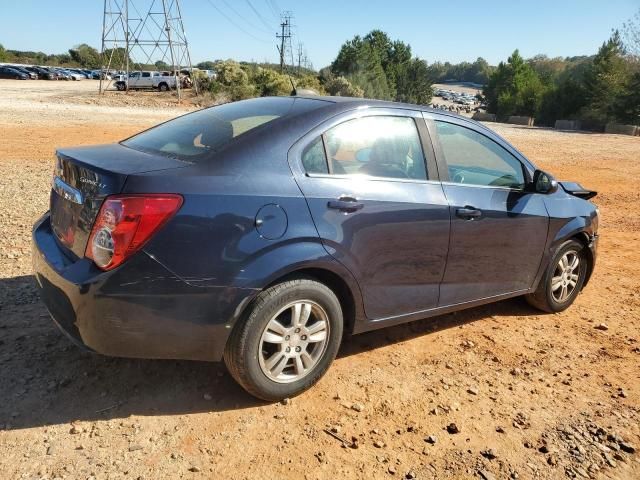
<svg viewBox="0 0 640 480">
<path fill-rule="evenodd" d="M 299 141 L 290 163 L 324 247 L 357 279 L 368 318 L 437 306 L 449 207 L 419 112 L 343 114 Z"/>
</svg>

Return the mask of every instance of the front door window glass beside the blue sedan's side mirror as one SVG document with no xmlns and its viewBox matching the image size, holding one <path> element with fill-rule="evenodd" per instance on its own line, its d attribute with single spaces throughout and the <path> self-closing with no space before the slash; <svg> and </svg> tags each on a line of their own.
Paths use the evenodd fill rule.
<svg viewBox="0 0 640 480">
<path fill-rule="evenodd" d="M 503 147 L 470 128 L 441 121 L 435 123 L 450 181 L 524 188 L 522 163 Z"/>
</svg>

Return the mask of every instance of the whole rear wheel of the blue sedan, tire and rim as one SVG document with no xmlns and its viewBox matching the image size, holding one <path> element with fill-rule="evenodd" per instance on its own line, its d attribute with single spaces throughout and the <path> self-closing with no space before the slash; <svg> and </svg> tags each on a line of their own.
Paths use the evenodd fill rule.
<svg viewBox="0 0 640 480">
<path fill-rule="evenodd" d="M 229 337 L 224 360 L 251 395 L 281 400 L 326 373 L 342 329 L 340 302 L 330 288 L 312 279 L 289 280 L 258 295 Z"/>
</svg>

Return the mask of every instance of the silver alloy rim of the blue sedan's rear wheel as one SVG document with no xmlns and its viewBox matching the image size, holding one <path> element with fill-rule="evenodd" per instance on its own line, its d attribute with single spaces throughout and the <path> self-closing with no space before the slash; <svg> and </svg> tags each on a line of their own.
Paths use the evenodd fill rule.
<svg viewBox="0 0 640 480">
<path fill-rule="evenodd" d="M 260 369 L 274 382 L 295 382 L 313 371 L 328 343 L 325 310 L 311 300 L 297 300 L 267 323 L 260 339 Z"/>
</svg>

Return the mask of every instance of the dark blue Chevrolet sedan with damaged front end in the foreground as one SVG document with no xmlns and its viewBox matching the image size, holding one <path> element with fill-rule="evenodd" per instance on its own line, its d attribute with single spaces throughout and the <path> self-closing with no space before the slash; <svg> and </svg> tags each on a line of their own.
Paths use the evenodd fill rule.
<svg viewBox="0 0 640 480">
<path fill-rule="evenodd" d="M 33 230 L 56 324 L 105 355 L 224 359 L 270 401 L 343 333 L 521 295 L 564 310 L 596 259 L 595 192 L 426 107 L 259 98 L 56 155 Z"/>
</svg>

